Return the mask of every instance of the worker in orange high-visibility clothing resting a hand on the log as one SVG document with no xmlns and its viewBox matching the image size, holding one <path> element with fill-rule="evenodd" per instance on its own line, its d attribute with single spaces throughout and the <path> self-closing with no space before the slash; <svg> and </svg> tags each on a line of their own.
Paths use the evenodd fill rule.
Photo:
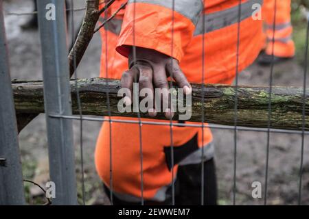
<svg viewBox="0 0 309 219">
<path fill-rule="evenodd" d="M 100 22 L 124 2 L 115 1 Z M 191 83 L 231 84 L 263 47 L 262 18 L 257 19 L 260 10 L 254 5 L 262 6 L 262 0 L 129 0 L 100 30 L 100 77 L 121 79 L 128 90 L 134 81 L 140 90 L 154 90 L 168 88 L 172 76 L 187 95 Z M 126 104 L 132 102 L 128 94 Z M 148 108 L 154 118 L 159 111 Z M 141 121 L 169 124 L 172 110 L 161 112 L 167 120 Z M 214 143 L 208 127 L 186 120 L 173 123 L 191 127 L 130 120 L 137 123 L 104 122 L 95 150 L 95 166 L 113 204 L 138 205 L 143 199 L 146 205 L 170 205 L 174 194 L 176 205 L 216 205 Z"/>
</svg>

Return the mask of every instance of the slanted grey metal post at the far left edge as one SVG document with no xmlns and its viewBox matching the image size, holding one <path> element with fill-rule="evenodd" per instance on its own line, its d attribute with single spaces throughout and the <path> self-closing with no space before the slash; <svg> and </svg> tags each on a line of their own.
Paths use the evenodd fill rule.
<svg viewBox="0 0 309 219">
<path fill-rule="evenodd" d="M 16 115 L 0 1 L 0 205 L 24 205 Z"/>
</svg>

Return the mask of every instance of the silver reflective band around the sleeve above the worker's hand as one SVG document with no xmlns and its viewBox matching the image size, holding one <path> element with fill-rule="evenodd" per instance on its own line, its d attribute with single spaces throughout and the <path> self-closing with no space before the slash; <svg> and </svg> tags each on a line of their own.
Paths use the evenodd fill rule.
<svg viewBox="0 0 309 219">
<path fill-rule="evenodd" d="M 160 5 L 172 10 L 173 0 L 129 0 L 128 3 L 150 3 Z M 189 18 L 194 25 L 198 22 L 198 17 L 203 11 L 202 0 L 174 0 L 174 10 Z"/>
</svg>

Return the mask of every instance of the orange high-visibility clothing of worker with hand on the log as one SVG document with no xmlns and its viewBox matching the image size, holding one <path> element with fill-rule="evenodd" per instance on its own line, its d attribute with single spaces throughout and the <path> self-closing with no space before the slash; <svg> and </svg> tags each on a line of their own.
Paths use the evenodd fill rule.
<svg viewBox="0 0 309 219">
<path fill-rule="evenodd" d="M 108 15 L 113 14 L 124 2 L 116 1 Z M 120 11 L 115 19 L 100 31 L 100 77 L 119 79 L 128 69 L 129 47 L 135 45 L 155 49 L 176 58 L 192 83 L 230 84 L 236 72 L 249 66 L 262 49 L 262 21 L 255 20 L 252 16 L 255 12 L 253 4 L 262 4 L 262 0 L 242 1 L 237 48 L 239 2 L 176 0 L 173 7 L 172 0 L 129 0 L 125 10 Z M 104 15 L 100 19 L 104 21 Z M 202 81 L 203 69 L 205 79 Z M 172 145 L 175 149 L 194 136 L 197 136 L 200 148 L 205 146 L 207 149 L 212 141 L 208 128 L 204 129 L 204 133 L 201 128 L 194 127 L 173 127 L 172 131 Z M 166 164 L 164 153 L 165 147 L 171 145 L 170 126 L 142 125 L 141 143 L 144 155 L 144 198 L 163 201 L 159 193 L 172 183 L 172 172 Z M 110 168 L 113 170 L 113 191 L 120 198 L 130 197 L 130 200 L 139 201 L 141 196 L 139 148 L 138 124 L 112 123 L 111 129 L 109 123 L 102 125 L 95 151 L 95 165 L 108 187 L 111 186 Z M 175 177 L 177 167 L 176 164 Z"/>
</svg>

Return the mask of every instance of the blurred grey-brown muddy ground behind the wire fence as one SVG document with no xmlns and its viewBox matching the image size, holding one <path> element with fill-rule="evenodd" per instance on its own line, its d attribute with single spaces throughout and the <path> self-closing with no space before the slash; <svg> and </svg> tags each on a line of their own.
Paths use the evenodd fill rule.
<svg viewBox="0 0 309 219">
<path fill-rule="evenodd" d="M 75 7 L 80 8 L 84 1 L 75 0 Z M 30 12 L 32 1 L 4 1 L 5 25 L 10 52 L 11 77 L 19 79 L 41 79 L 41 47 L 38 31 L 23 31 L 19 25 L 25 23 L 29 16 L 10 15 L 10 12 Z M 76 12 L 76 23 L 82 18 L 83 12 Z M 305 23 L 304 23 L 305 27 Z M 91 41 L 82 63 L 78 67 L 78 77 L 96 77 L 100 63 L 100 36 L 96 34 Z M 304 49 L 304 47 L 300 47 Z M 301 51 L 300 53 L 304 53 Z M 240 85 L 268 86 L 270 68 L 261 68 L 253 64 L 240 74 Z M 278 86 L 302 86 L 304 66 L 299 60 L 291 60 L 275 66 L 273 83 Z M 73 122 L 76 146 L 76 169 L 78 175 L 78 190 L 80 197 L 80 142 L 79 122 Z M 106 204 L 100 179 L 95 173 L 93 151 L 95 139 L 100 129 L 98 122 L 84 122 L 84 164 L 86 202 Z M 266 163 L 266 133 L 253 131 L 238 131 L 237 137 L 237 195 L 236 204 L 261 205 L 264 201 L 264 181 Z M 299 191 L 299 165 L 301 156 L 301 136 L 299 134 L 271 133 L 268 170 L 268 204 L 297 204 Z M 218 175 L 219 203 L 232 203 L 233 188 L 233 131 L 214 130 L 216 144 L 216 166 Z M 302 204 L 309 204 L 309 138 L 305 138 L 304 176 L 302 188 Z M 39 183 L 48 179 L 47 142 L 45 115 L 38 116 L 19 135 L 22 154 L 23 175 Z M 262 198 L 252 198 L 251 183 L 262 183 Z M 27 201 L 30 204 L 40 204 L 36 188 L 25 184 Z M 79 198 L 79 201 L 81 199 Z"/>
</svg>

